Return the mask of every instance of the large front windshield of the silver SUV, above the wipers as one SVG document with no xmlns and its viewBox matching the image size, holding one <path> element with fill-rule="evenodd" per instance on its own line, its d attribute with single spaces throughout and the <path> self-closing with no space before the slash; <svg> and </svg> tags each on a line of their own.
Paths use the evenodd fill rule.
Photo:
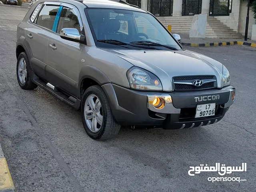
<svg viewBox="0 0 256 192">
<path fill-rule="evenodd" d="M 90 8 L 86 9 L 86 16 L 97 46 L 118 46 L 113 42 L 103 40 L 116 40 L 125 43 L 138 43 L 146 46 L 156 44 L 169 46 L 180 50 L 180 46 L 170 36 L 167 30 L 150 14 L 121 9 Z M 131 44 L 130 44 L 131 45 Z M 159 45 L 158 45 L 159 46 Z M 164 46 L 161 48 L 166 49 Z M 119 46 L 118 48 L 124 48 Z"/>
</svg>

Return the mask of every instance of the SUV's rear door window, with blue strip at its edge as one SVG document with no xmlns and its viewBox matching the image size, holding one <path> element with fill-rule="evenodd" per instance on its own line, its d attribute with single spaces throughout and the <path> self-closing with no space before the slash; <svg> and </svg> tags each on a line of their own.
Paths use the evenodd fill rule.
<svg viewBox="0 0 256 192">
<path fill-rule="evenodd" d="M 56 18 L 59 8 L 59 6 L 44 5 L 38 15 L 36 24 L 52 30 L 54 20 Z"/>
</svg>

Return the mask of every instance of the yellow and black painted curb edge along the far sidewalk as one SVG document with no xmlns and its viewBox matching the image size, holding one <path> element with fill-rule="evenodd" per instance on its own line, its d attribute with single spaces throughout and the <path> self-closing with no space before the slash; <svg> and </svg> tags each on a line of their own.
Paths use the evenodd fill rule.
<svg viewBox="0 0 256 192">
<path fill-rule="evenodd" d="M 216 43 L 184 43 L 181 42 L 183 46 L 189 47 L 217 47 L 217 46 L 227 46 L 227 45 L 246 45 L 251 47 L 256 47 L 256 43 L 248 43 L 242 41 L 231 41 L 231 42 L 216 42 Z"/>
</svg>

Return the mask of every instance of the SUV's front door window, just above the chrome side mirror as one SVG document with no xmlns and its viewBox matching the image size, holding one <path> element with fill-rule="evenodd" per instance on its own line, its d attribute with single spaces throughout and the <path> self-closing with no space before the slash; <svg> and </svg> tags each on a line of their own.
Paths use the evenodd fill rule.
<svg viewBox="0 0 256 192">
<path fill-rule="evenodd" d="M 60 14 L 60 20 L 58 22 L 57 33 L 60 34 L 60 31 L 63 28 L 76 28 L 80 34 L 82 31 L 80 29 L 80 24 L 78 21 L 78 16 L 72 8 L 63 7 Z"/>
</svg>

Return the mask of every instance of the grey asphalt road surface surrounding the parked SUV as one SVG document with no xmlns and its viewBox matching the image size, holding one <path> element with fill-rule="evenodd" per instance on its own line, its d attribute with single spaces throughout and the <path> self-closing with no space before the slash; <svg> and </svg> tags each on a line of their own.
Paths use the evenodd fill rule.
<svg viewBox="0 0 256 192">
<path fill-rule="evenodd" d="M 222 121 L 190 130 L 130 130 L 90 139 L 80 112 L 16 79 L 16 26 L 27 8 L 0 6 L 0 142 L 17 192 L 252 192 L 256 188 L 256 48 L 188 48 L 230 70 L 236 101 Z M 209 182 L 190 166 L 241 166 L 246 182 Z"/>
</svg>

